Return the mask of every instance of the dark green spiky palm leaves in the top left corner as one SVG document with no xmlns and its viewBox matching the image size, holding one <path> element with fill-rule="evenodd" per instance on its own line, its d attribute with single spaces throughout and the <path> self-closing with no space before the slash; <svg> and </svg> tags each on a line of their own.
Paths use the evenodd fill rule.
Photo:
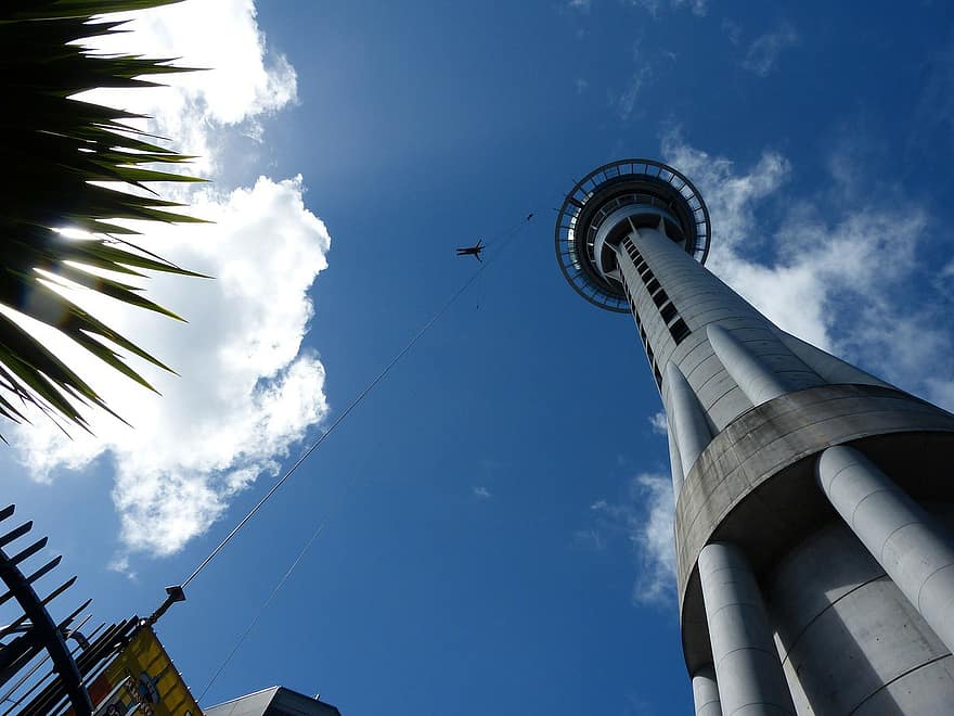
<svg viewBox="0 0 954 716">
<path fill-rule="evenodd" d="M 3 0 L 0 4 L 0 72 L 7 110 L 0 113 L 0 152 L 8 159 L 0 192 L 3 418 L 25 420 L 23 409 L 33 405 L 57 424 L 65 421 L 86 429 L 85 408 L 109 410 L 92 387 L 23 327 L 24 321 L 15 319 L 16 314 L 53 327 L 150 389 L 119 350 L 170 370 L 67 299 L 62 289 L 81 286 L 181 320 L 145 298 L 138 286 L 102 272 L 108 277 L 142 277 L 143 271 L 199 276 L 118 239 L 136 234 L 124 220 L 201 221 L 176 210 L 180 204 L 160 199 L 147 186 L 201 181 L 157 168 L 192 157 L 124 124 L 138 115 L 73 99 L 96 88 L 153 87 L 156 84 L 149 78 L 155 75 L 188 72 L 170 65 L 169 59 L 94 53 L 79 42 L 123 31 L 121 23 L 104 21 L 101 15 L 178 1 Z M 67 239 L 61 233 L 64 228 L 88 231 L 92 238 Z"/>
</svg>

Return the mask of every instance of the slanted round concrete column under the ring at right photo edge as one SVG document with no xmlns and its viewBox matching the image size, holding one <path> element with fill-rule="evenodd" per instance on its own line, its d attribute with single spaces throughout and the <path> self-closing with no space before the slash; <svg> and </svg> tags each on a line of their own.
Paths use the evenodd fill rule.
<svg viewBox="0 0 954 716">
<path fill-rule="evenodd" d="M 828 448 L 816 471 L 848 526 L 954 652 L 954 541 L 947 530 L 854 448 Z"/>
</svg>

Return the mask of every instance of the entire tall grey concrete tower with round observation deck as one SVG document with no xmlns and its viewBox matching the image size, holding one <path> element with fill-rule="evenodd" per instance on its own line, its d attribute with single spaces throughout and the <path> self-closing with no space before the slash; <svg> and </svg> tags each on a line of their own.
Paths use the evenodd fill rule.
<svg viewBox="0 0 954 716">
<path fill-rule="evenodd" d="M 709 239 L 647 159 L 588 175 L 556 226 L 666 407 L 696 714 L 954 714 L 954 415 L 774 325 L 702 266 Z"/>
</svg>

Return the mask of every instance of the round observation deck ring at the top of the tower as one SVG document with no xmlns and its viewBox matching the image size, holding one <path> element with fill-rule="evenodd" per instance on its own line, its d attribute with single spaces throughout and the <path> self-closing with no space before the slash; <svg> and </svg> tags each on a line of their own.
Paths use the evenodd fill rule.
<svg viewBox="0 0 954 716">
<path fill-rule="evenodd" d="M 706 263 L 709 209 L 688 179 L 654 159 L 620 159 L 594 169 L 567 194 L 556 219 L 556 259 L 564 277 L 591 304 L 629 312 L 616 251 L 634 229 L 648 227 Z"/>
</svg>

